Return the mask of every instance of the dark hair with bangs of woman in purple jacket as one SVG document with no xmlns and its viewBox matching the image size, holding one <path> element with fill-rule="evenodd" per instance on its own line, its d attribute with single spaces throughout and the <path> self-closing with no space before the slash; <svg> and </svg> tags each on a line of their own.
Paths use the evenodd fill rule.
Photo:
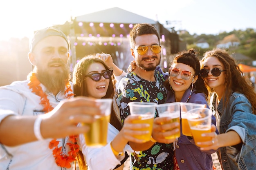
<svg viewBox="0 0 256 170">
<path fill-rule="evenodd" d="M 196 53 L 194 49 L 189 49 L 189 51 L 181 51 L 177 53 L 175 58 L 173 58 L 173 61 L 170 64 L 173 65 L 174 63 L 182 63 L 185 65 L 189 65 L 192 67 L 195 71 L 195 75 L 198 76 L 197 81 L 194 83 L 195 84 L 195 93 L 204 93 L 206 100 L 208 99 L 208 90 L 207 87 L 204 85 L 204 79 L 200 76 L 200 61 L 198 57 L 196 56 Z M 164 82 L 164 85 L 167 89 L 171 89 L 169 80 L 166 80 Z M 191 87 L 192 88 L 192 87 Z M 194 87 L 193 87 L 194 88 Z"/>
</svg>

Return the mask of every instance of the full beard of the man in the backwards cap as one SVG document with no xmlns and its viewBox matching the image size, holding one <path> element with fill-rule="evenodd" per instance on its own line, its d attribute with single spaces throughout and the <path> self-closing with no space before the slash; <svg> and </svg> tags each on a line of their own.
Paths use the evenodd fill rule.
<svg viewBox="0 0 256 170">
<path fill-rule="evenodd" d="M 54 73 L 49 73 L 47 70 L 36 69 L 37 78 L 49 92 L 60 92 L 65 89 L 66 82 L 70 78 L 70 70 L 67 65 L 63 65 L 63 69 L 55 70 Z"/>
</svg>

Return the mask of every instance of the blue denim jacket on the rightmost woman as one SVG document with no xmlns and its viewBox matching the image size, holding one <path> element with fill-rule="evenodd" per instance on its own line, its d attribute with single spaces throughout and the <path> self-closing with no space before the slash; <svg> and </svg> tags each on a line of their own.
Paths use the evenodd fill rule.
<svg viewBox="0 0 256 170">
<path fill-rule="evenodd" d="M 215 110 L 216 94 L 211 96 L 211 110 Z M 229 97 L 226 108 L 223 101 L 218 105 L 220 114 L 220 134 L 234 130 L 242 139 L 242 143 L 222 147 L 217 152 L 224 170 L 256 170 L 256 115 L 252 113 L 252 105 L 245 95 L 234 92 Z M 221 156 L 221 157 L 220 157 Z"/>
</svg>

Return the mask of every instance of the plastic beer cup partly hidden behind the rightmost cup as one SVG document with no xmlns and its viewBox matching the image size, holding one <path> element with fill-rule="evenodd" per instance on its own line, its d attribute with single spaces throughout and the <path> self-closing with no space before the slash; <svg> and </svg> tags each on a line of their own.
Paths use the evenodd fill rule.
<svg viewBox="0 0 256 170">
<path fill-rule="evenodd" d="M 186 136 L 192 136 L 191 130 L 189 128 L 188 122 L 188 111 L 195 109 L 195 108 L 205 108 L 206 105 L 198 104 L 198 103 L 180 103 L 180 112 L 181 112 L 181 127 L 182 127 L 182 134 Z"/>
</svg>

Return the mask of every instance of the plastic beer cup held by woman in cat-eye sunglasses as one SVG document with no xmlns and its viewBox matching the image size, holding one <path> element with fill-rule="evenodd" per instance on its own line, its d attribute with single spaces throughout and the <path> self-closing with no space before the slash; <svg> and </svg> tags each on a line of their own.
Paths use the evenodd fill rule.
<svg viewBox="0 0 256 170">
<path fill-rule="evenodd" d="M 130 114 L 139 116 L 139 119 L 132 121 L 133 124 L 149 124 L 149 127 L 142 128 L 140 130 L 149 131 L 148 134 L 144 135 L 134 135 L 137 139 L 144 139 L 144 141 L 150 141 L 152 130 L 153 130 L 153 122 L 155 118 L 155 107 L 157 103 L 153 102 L 130 102 L 128 103 Z"/>
</svg>

